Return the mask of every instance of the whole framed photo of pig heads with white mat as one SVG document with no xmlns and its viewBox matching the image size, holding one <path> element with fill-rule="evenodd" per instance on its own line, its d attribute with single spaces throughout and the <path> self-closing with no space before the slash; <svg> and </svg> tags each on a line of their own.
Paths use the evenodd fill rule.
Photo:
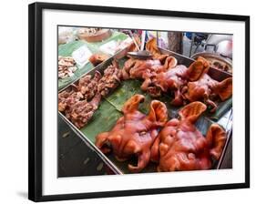
<svg viewBox="0 0 256 204">
<path fill-rule="evenodd" d="M 29 5 L 29 199 L 250 187 L 250 17 Z"/>
</svg>

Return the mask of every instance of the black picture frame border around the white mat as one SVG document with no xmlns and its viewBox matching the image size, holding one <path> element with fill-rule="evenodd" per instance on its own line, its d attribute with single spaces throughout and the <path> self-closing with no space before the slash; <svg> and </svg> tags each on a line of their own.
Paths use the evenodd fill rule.
<svg viewBox="0 0 256 204">
<path fill-rule="evenodd" d="M 90 199 L 105 197 L 134 196 L 146 194 L 175 193 L 187 191 L 243 189 L 250 188 L 250 16 L 219 15 L 167 10 L 148 10 L 138 8 L 108 7 L 94 5 L 67 5 L 34 3 L 28 6 L 28 199 L 49 201 L 63 199 Z M 128 15 L 161 15 L 198 19 L 231 20 L 245 22 L 245 182 L 195 187 L 133 189 L 91 193 L 42 195 L 42 12 L 44 9 L 68 11 L 100 12 Z"/>
</svg>

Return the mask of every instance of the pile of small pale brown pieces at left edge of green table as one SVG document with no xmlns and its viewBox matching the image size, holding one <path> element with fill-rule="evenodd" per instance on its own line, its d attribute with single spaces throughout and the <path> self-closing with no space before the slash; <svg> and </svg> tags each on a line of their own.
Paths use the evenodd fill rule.
<svg viewBox="0 0 256 204">
<path fill-rule="evenodd" d="M 77 71 L 76 62 L 71 56 L 58 56 L 57 76 L 58 78 L 66 78 L 73 76 Z"/>
</svg>

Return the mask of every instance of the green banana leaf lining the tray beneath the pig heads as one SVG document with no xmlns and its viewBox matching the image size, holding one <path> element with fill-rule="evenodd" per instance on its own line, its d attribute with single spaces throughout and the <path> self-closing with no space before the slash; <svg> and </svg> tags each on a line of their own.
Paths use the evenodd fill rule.
<svg viewBox="0 0 256 204">
<path fill-rule="evenodd" d="M 118 61 L 120 67 L 123 66 L 126 59 L 127 58 L 123 58 Z M 155 98 L 150 97 L 147 92 L 143 92 L 140 89 L 141 84 L 142 82 L 136 79 L 122 81 L 118 88 L 112 91 L 108 97 L 105 97 L 101 101 L 97 111 L 95 112 L 94 116 L 89 121 L 87 126 L 80 129 L 84 137 L 95 143 L 97 134 L 110 131 L 111 128 L 115 126 L 118 118 L 123 116 L 121 109 L 124 103 L 128 100 L 128 98 L 134 96 L 135 94 L 141 94 L 145 96 L 145 101 L 140 104 L 139 110 L 147 114 L 150 102 Z M 166 104 L 169 111 L 169 118 L 178 117 L 178 111 L 181 107 L 171 106 L 169 103 L 171 101 L 171 97 L 169 97 L 168 95 L 163 95 L 162 97 L 159 97 L 157 99 Z M 195 125 L 197 128 L 199 128 L 200 132 L 203 135 L 206 135 L 208 129 L 210 128 L 210 125 L 214 123 L 213 119 L 220 119 L 220 117 L 222 117 L 223 114 L 230 109 L 231 101 L 232 100 L 230 98 L 227 101 L 221 102 L 215 114 L 210 115 L 210 113 L 207 112 L 199 118 Z M 106 156 L 124 174 L 130 173 L 128 171 L 128 164 L 136 162 L 134 158 L 130 158 L 128 161 L 125 162 L 120 162 L 111 153 Z M 213 162 L 213 168 L 215 168 L 218 161 Z M 156 170 L 157 164 L 150 162 L 147 168 L 143 169 L 142 172 L 156 172 Z"/>
</svg>

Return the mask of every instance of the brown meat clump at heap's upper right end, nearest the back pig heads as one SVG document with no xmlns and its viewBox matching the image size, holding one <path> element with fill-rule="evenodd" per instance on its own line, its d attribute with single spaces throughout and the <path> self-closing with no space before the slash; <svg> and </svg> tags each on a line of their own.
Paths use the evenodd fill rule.
<svg viewBox="0 0 256 204">
<path fill-rule="evenodd" d="M 104 75 L 98 81 L 97 92 L 103 97 L 107 96 L 111 89 L 118 87 L 120 78 L 121 72 L 119 70 L 118 62 L 113 61 L 112 65 L 104 70 Z"/>
</svg>

